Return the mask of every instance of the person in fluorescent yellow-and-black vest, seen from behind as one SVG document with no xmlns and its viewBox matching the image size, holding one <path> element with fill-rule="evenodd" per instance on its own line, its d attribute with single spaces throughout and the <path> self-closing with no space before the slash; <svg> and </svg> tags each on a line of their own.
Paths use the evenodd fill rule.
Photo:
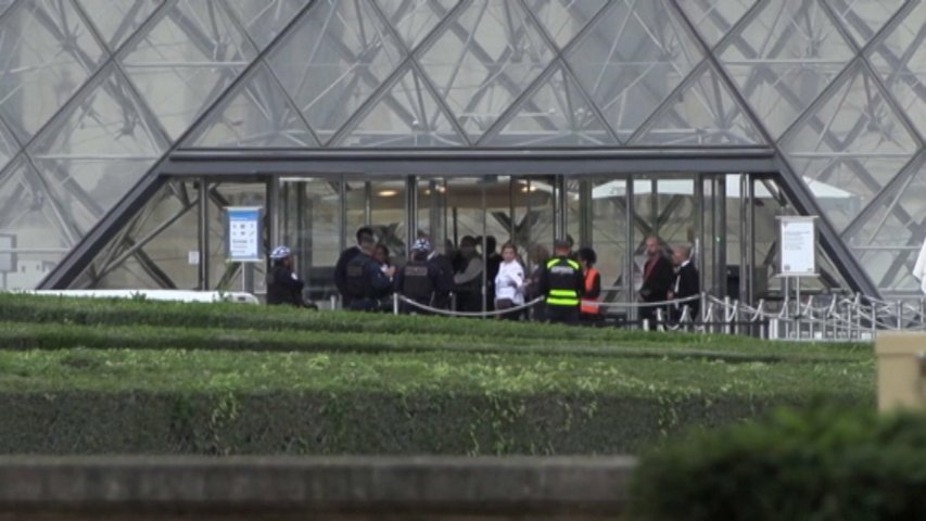
<svg viewBox="0 0 926 521">
<path fill-rule="evenodd" d="M 546 295 L 546 316 L 551 322 L 578 323 L 585 290 L 582 266 L 570 258 L 569 241 L 554 242 L 554 257 L 541 272 L 538 289 Z"/>
</svg>

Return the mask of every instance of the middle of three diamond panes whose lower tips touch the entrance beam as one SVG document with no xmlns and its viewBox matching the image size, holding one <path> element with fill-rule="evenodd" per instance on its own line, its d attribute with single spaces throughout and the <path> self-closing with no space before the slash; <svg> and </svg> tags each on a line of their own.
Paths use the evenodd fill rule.
<svg viewBox="0 0 926 521">
<path fill-rule="evenodd" d="M 475 140 L 553 58 L 519 2 L 478 0 L 461 10 L 419 61 Z"/>
</svg>

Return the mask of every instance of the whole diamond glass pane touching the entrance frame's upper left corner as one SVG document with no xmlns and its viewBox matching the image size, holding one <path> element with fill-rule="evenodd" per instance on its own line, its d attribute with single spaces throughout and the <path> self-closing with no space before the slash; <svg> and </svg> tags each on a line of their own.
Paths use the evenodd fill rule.
<svg viewBox="0 0 926 521">
<path fill-rule="evenodd" d="M 115 65 L 29 149 L 66 217 L 86 233 L 161 158 L 167 142 Z"/>
</svg>

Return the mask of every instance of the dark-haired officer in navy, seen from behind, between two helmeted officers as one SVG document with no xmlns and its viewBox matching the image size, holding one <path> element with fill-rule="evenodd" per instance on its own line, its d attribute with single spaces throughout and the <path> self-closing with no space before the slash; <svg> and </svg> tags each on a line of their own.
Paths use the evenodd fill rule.
<svg viewBox="0 0 926 521">
<path fill-rule="evenodd" d="M 392 290 L 392 276 L 395 267 L 383 271 L 373 259 L 376 242 L 372 237 L 363 237 L 360 252 L 354 255 L 345 267 L 345 292 L 350 297 L 348 309 L 355 312 L 378 312 L 385 307 L 384 298 Z"/>
</svg>

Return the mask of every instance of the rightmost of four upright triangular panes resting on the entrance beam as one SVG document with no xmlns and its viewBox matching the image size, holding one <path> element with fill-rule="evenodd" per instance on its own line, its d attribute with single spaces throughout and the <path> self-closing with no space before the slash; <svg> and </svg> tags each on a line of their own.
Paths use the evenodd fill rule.
<svg viewBox="0 0 926 521">
<path fill-rule="evenodd" d="M 764 144 L 718 73 L 707 67 L 634 139 L 634 144 Z"/>
</svg>

